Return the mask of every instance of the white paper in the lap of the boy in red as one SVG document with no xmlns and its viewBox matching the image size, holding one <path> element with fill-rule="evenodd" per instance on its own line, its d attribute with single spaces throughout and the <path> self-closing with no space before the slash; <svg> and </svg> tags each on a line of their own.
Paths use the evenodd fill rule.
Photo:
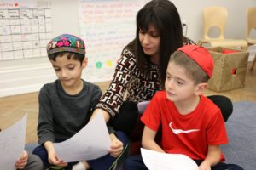
<svg viewBox="0 0 256 170">
<path fill-rule="evenodd" d="M 143 162 L 149 170 L 198 170 L 189 156 L 166 154 L 141 148 Z"/>
</svg>

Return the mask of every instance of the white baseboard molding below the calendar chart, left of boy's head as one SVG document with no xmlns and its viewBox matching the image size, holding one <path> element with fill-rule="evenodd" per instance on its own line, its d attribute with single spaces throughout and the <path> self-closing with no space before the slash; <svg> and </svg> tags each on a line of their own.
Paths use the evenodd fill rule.
<svg viewBox="0 0 256 170">
<path fill-rule="evenodd" d="M 0 97 L 38 92 L 44 83 L 54 80 L 49 63 L 4 67 L 0 69 Z"/>
</svg>

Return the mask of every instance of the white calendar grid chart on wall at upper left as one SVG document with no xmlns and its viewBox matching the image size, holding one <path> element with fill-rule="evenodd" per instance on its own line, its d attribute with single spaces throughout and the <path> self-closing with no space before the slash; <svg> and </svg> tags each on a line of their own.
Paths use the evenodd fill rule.
<svg viewBox="0 0 256 170">
<path fill-rule="evenodd" d="M 50 0 L 0 1 L 0 60 L 45 57 L 51 37 Z"/>
</svg>

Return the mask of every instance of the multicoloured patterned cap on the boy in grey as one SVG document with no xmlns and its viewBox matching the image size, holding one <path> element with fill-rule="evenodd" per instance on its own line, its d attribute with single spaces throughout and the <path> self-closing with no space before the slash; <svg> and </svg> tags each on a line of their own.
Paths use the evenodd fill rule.
<svg viewBox="0 0 256 170">
<path fill-rule="evenodd" d="M 62 34 L 55 37 L 47 44 L 47 54 L 55 54 L 58 52 L 73 52 L 85 54 L 84 41 L 70 34 Z"/>
</svg>

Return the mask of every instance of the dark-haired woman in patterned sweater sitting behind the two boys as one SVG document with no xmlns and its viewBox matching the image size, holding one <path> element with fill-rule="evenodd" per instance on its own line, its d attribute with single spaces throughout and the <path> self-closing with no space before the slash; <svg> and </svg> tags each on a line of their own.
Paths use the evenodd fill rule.
<svg viewBox="0 0 256 170">
<path fill-rule="evenodd" d="M 137 131 L 137 128 L 134 131 L 139 117 L 137 103 L 150 101 L 156 91 L 164 89 L 171 54 L 184 44 L 192 43 L 183 37 L 180 16 L 172 2 L 147 3 L 137 13 L 136 38 L 123 49 L 113 80 L 93 116 L 102 113 L 116 130 L 131 136 Z M 230 99 L 224 96 L 209 99 L 218 105 L 226 121 L 232 113 Z"/>
</svg>

